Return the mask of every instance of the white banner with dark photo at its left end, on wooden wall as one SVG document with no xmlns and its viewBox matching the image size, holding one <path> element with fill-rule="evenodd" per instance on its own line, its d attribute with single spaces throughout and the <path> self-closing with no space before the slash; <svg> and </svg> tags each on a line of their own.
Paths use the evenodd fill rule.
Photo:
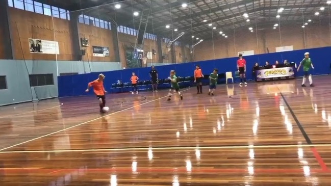
<svg viewBox="0 0 331 186">
<path fill-rule="evenodd" d="M 31 53 L 38 54 L 57 54 L 59 55 L 59 43 L 57 41 L 47 41 L 29 38 Z"/>
</svg>

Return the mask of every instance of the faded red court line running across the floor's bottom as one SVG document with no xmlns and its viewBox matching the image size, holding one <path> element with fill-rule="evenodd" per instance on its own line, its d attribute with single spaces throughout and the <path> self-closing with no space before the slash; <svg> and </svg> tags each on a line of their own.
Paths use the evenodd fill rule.
<svg viewBox="0 0 331 186">
<path fill-rule="evenodd" d="M 33 168 L 17 168 L 17 169 L 0 169 L 0 173 L 5 174 L 58 174 L 74 171 L 87 171 L 99 173 L 132 173 L 132 168 L 110 168 L 110 169 L 33 169 Z M 138 168 L 135 172 L 138 173 L 188 173 L 186 168 Z M 302 173 L 303 169 L 253 169 L 254 173 Z M 213 169 L 213 168 L 192 168 L 191 173 L 249 173 L 248 169 Z M 310 173 L 331 173 L 329 169 L 311 169 Z"/>
</svg>

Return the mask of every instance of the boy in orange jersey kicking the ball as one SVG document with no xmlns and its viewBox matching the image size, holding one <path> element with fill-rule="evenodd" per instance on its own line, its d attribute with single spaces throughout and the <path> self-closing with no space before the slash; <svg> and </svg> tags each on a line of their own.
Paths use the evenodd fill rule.
<svg viewBox="0 0 331 186">
<path fill-rule="evenodd" d="M 88 92 L 90 87 L 93 87 L 93 92 L 99 100 L 101 113 L 104 113 L 103 108 L 106 105 L 105 93 L 107 91 L 104 88 L 104 79 L 105 79 L 105 75 L 100 73 L 97 79 L 95 79 L 93 82 L 90 82 L 87 85 L 87 89 L 85 90 L 85 92 Z"/>
</svg>

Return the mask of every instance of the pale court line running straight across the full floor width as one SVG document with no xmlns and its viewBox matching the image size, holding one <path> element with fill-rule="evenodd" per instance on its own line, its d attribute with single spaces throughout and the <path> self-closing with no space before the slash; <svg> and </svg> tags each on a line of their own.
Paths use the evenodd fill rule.
<svg viewBox="0 0 331 186">
<path fill-rule="evenodd" d="M 45 153 L 45 152 L 101 152 L 101 151 L 143 151 L 143 150 L 215 150 L 215 149 L 257 149 L 257 148 L 293 148 L 293 147 L 330 147 L 331 144 L 297 144 L 297 145 L 242 145 L 242 146 L 195 146 L 195 147 L 131 147 L 131 148 L 103 148 L 103 149 L 67 149 L 67 150 L 25 150 L 25 151 L 0 151 L 0 154 L 8 153 Z"/>
</svg>

